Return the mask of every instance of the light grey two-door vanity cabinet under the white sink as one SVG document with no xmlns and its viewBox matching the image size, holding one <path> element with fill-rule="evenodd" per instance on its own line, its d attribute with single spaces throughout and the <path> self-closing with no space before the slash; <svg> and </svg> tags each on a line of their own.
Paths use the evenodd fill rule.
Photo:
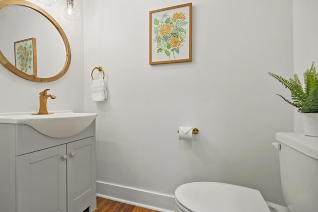
<svg viewBox="0 0 318 212">
<path fill-rule="evenodd" d="M 69 138 L 0 124 L 1 212 L 96 209 L 95 121 Z"/>
</svg>

